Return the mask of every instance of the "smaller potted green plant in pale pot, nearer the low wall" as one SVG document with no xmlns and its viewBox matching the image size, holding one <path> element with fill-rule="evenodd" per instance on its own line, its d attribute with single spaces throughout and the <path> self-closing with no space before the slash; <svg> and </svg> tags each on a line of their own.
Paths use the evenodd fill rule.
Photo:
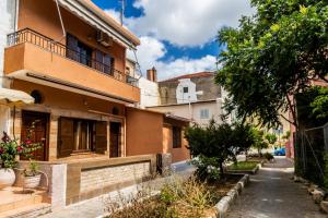
<svg viewBox="0 0 328 218">
<path fill-rule="evenodd" d="M 35 189 L 39 185 L 40 181 L 40 171 L 38 170 L 39 166 L 34 160 L 30 159 L 30 166 L 27 169 L 24 169 L 23 175 L 24 175 L 24 189 Z"/>
</svg>

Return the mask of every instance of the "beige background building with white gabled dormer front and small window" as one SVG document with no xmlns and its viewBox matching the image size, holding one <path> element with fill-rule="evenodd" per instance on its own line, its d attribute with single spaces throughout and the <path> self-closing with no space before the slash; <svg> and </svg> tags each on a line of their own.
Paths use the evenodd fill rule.
<svg viewBox="0 0 328 218">
<path fill-rule="evenodd" d="M 147 108 L 188 118 L 201 125 L 207 125 L 211 119 L 220 123 L 226 93 L 214 84 L 214 76 L 213 72 L 199 72 L 161 81 L 161 105 Z"/>
</svg>

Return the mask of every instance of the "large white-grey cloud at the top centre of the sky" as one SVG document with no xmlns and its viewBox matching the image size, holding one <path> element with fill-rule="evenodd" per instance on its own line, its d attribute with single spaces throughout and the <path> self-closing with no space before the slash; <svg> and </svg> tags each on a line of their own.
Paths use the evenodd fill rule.
<svg viewBox="0 0 328 218">
<path fill-rule="evenodd" d="M 249 0 L 138 0 L 144 16 L 126 19 L 134 33 L 152 35 L 176 46 L 202 46 L 222 26 L 234 26 L 253 13 Z"/>
</svg>

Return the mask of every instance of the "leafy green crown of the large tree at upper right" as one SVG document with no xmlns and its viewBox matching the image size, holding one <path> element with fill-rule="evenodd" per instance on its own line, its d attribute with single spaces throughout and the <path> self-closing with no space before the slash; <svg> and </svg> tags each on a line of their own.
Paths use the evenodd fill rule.
<svg viewBox="0 0 328 218">
<path fill-rule="evenodd" d="M 295 94 L 311 81 L 327 82 L 328 3 L 326 0 L 251 0 L 256 13 L 238 28 L 219 32 L 222 69 L 216 75 L 230 94 L 226 110 L 256 118 L 268 128 L 280 116 L 297 129 Z M 292 119 L 282 116 L 290 111 Z"/>
</svg>

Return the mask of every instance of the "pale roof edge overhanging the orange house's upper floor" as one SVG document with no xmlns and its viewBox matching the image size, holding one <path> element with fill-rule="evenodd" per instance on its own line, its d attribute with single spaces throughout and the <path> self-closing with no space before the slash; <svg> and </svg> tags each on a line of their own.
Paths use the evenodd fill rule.
<svg viewBox="0 0 328 218">
<path fill-rule="evenodd" d="M 61 4 L 65 5 L 71 5 L 73 1 L 68 0 L 60 0 Z M 95 15 L 97 19 L 99 19 L 102 22 L 106 23 L 110 27 L 113 27 L 117 33 L 119 33 L 121 36 L 124 36 L 126 39 L 130 40 L 131 44 L 134 46 L 140 45 L 140 39 L 132 34 L 129 29 L 120 25 L 114 17 L 108 15 L 105 11 L 99 9 L 96 4 L 94 4 L 91 0 L 75 0 L 75 2 L 79 2 L 82 4 L 89 12 L 91 12 L 93 15 Z"/>
</svg>

